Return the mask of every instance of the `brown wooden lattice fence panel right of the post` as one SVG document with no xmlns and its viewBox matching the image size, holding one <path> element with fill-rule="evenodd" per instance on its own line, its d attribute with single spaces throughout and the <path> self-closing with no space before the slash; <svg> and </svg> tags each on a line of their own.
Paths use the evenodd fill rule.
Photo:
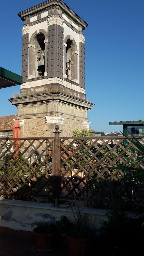
<svg viewBox="0 0 144 256">
<path fill-rule="evenodd" d="M 143 144 L 143 137 L 137 138 Z M 144 169 L 143 156 L 124 136 L 60 137 L 59 140 L 62 198 L 81 198 L 99 203 L 99 207 L 114 201 L 123 205 L 144 203 L 143 184 L 120 182 L 127 173 L 119 170 L 118 165 Z"/>
</svg>

